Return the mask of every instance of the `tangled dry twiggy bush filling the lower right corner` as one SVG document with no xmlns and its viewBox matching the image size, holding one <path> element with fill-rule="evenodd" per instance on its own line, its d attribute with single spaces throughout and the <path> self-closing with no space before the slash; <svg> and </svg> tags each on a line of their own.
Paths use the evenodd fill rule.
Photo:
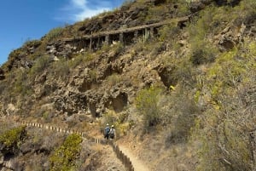
<svg viewBox="0 0 256 171">
<path fill-rule="evenodd" d="M 241 101 L 233 98 L 238 99 L 237 96 L 220 97 L 224 104 L 219 109 L 207 109 L 200 120 L 200 134 L 195 133 L 202 142 L 198 170 L 214 168 L 239 171 L 253 170 L 255 167 L 252 146 L 254 140 L 252 134 L 249 134 L 255 117 L 252 111 L 241 111 L 246 106 L 240 105 Z M 254 134 L 253 132 L 253 136 Z"/>
</svg>

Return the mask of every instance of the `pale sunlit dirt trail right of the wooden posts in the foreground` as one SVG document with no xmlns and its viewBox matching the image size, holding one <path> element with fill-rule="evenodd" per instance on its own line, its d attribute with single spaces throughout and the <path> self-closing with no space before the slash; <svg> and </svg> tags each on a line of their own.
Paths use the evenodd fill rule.
<svg viewBox="0 0 256 171">
<path fill-rule="evenodd" d="M 146 164 L 140 161 L 131 151 L 126 148 L 124 145 L 119 145 L 119 149 L 125 153 L 127 157 L 130 158 L 131 163 L 134 167 L 134 171 L 150 171 Z"/>
</svg>

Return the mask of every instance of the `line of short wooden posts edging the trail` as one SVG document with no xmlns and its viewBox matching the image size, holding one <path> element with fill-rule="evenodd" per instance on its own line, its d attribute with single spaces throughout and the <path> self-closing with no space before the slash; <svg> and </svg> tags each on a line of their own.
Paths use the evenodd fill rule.
<svg viewBox="0 0 256 171">
<path fill-rule="evenodd" d="M 124 164 L 125 168 L 127 168 L 128 171 L 134 171 L 134 167 L 131 163 L 131 159 L 127 157 L 123 151 L 120 150 L 119 145 L 115 144 L 113 140 L 96 139 L 88 134 L 85 134 L 84 132 L 80 132 L 74 129 L 59 128 L 59 127 L 50 126 L 42 123 L 26 123 L 24 121 L 19 121 L 17 123 L 21 125 L 26 125 L 27 127 L 43 128 L 43 129 L 48 129 L 48 130 L 52 130 L 59 133 L 64 133 L 64 134 L 79 134 L 81 135 L 83 140 L 90 140 L 91 142 L 96 144 L 110 145 L 112 146 L 116 156 Z"/>
</svg>

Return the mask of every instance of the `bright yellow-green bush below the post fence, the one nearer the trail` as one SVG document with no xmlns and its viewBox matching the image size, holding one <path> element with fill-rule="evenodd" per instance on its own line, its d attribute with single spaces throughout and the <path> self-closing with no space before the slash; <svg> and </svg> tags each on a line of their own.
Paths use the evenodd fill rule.
<svg viewBox="0 0 256 171">
<path fill-rule="evenodd" d="M 80 143 L 82 138 L 79 134 L 70 134 L 64 141 L 63 145 L 55 149 L 54 153 L 50 156 L 51 171 L 71 171 L 75 170 L 75 160 L 79 156 L 81 150 Z"/>
</svg>

